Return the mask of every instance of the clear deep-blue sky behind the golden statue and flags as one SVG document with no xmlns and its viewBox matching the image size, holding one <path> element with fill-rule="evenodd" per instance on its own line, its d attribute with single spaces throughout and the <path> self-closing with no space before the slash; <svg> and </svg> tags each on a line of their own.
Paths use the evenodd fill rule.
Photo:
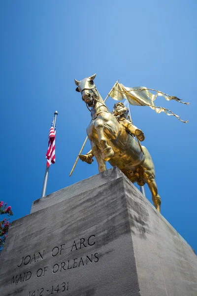
<svg viewBox="0 0 197 296">
<path fill-rule="evenodd" d="M 131 113 L 155 164 L 162 214 L 197 251 L 196 14 L 195 0 L 0 2 L 0 199 L 12 207 L 14 220 L 40 197 L 55 110 L 56 164 L 47 193 L 98 173 L 96 161 L 78 162 L 69 177 L 90 122 L 74 78 L 97 73 L 103 98 L 120 78 L 125 86 L 191 103 L 157 99 L 188 124 L 148 107 L 132 106 Z M 113 105 L 109 98 L 108 108 Z M 146 194 L 151 201 L 147 187 Z"/>
</svg>

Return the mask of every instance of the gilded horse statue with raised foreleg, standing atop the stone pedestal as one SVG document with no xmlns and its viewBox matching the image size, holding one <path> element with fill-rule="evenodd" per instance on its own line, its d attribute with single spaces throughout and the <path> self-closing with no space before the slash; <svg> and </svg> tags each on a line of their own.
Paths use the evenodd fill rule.
<svg viewBox="0 0 197 296">
<path fill-rule="evenodd" d="M 161 198 L 155 182 L 155 168 L 148 150 L 127 133 L 117 118 L 111 114 L 102 100 L 95 84 L 95 75 L 81 81 L 75 79 L 76 91 L 88 109 L 92 120 L 87 127 L 87 135 L 93 154 L 99 165 L 99 172 L 106 170 L 105 162 L 117 166 L 132 183 L 148 184 L 153 203 L 160 212 Z M 142 152 L 143 150 L 143 152 Z"/>
</svg>

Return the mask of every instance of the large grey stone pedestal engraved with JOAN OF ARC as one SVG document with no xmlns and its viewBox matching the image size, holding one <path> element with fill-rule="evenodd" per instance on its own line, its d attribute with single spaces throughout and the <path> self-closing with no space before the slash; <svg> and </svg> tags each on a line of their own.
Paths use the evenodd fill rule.
<svg viewBox="0 0 197 296">
<path fill-rule="evenodd" d="M 0 296 L 197 296 L 197 256 L 119 169 L 33 202 L 0 256 Z"/>
</svg>

